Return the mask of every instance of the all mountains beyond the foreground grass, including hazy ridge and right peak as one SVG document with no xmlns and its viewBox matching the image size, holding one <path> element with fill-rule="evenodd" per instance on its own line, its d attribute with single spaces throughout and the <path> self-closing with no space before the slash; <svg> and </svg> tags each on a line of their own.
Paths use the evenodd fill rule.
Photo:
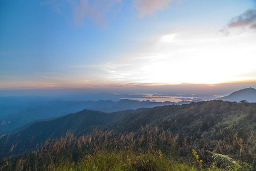
<svg viewBox="0 0 256 171">
<path fill-rule="evenodd" d="M 246 103 L 246 101 L 254 101 L 255 97 L 256 89 L 245 88 L 222 97 L 221 100 L 197 103 L 194 101 L 157 103 L 149 100 L 120 100 L 117 102 L 111 100 L 96 102 L 55 100 L 44 106 L 26 109 L 19 115 L 11 115 L 15 120 L 0 120 L 1 128 L 5 128 L 6 125 L 9 126 L 15 121 L 24 124 L 13 129 L 9 138 L 3 136 L 0 146 L 6 146 L 8 149 L 12 144 L 16 144 L 18 149 L 28 149 L 29 146 L 32 148 L 38 143 L 43 143 L 49 137 L 59 138 L 67 131 L 71 131 L 76 136 L 90 133 L 94 128 L 116 129 L 119 132 L 139 132 L 140 128 L 146 125 L 157 125 L 179 135 L 190 135 L 194 139 L 200 139 L 201 135 L 209 135 L 209 132 L 212 131 L 220 132 L 222 128 L 230 124 L 234 124 L 237 129 L 245 132 L 256 128 L 255 103 Z M 241 101 L 242 103 L 227 100 Z M 80 112 L 77 112 L 78 110 Z M 71 114 L 66 115 L 67 113 Z M 31 122 L 29 123 L 29 121 Z M 6 140 L 9 141 L 9 145 L 4 145 Z M 24 152 L 24 150 L 19 152 Z"/>
</svg>

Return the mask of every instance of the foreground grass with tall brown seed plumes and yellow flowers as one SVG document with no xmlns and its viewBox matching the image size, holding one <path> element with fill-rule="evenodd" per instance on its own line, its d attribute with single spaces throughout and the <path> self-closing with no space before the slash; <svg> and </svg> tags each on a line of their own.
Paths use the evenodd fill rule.
<svg viewBox="0 0 256 171">
<path fill-rule="evenodd" d="M 4 158 L 1 170 L 254 170 L 255 137 L 229 136 L 214 148 L 200 148 L 188 137 L 180 138 L 157 127 L 140 133 L 97 131 L 75 137 L 70 132 L 48 139 L 35 150 Z M 15 148 L 15 145 L 13 146 Z M 11 149 L 12 150 L 12 149 Z M 11 153 L 11 151 L 10 151 Z"/>
</svg>

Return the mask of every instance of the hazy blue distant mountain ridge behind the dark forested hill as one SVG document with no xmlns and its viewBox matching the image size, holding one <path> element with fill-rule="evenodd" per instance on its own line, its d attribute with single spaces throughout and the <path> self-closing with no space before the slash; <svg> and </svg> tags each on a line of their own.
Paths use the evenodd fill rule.
<svg viewBox="0 0 256 171">
<path fill-rule="evenodd" d="M 7 100 L 6 100 L 7 99 Z M 120 100 L 120 101 L 111 101 L 111 100 L 99 100 L 99 101 L 63 101 L 63 100 L 54 100 L 54 101 L 38 101 L 34 102 L 34 107 L 30 107 L 27 103 L 23 102 L 22 106 L 19 107 L 19 101 L 14 99 L 14 102 L 11 99 L 0 98 L 0 135 L 10 132 L 11 129 L 20 127 L 25 124 L 34 123 L 35 120 L 50 119 L 53 117 L 60 117 L 67 115 L 69 113 L 75 113 L 82 111 L 83 109 L 90 109 L 94 111 L 101 112 L 116 112 L 116 111 L 125 111 L 128 109 L 137 109 L 142 107 L 152 108 L 162 105 L 170 104 L 186 104 L 191 101 L 180 101 L 179 103 L 173 103 L 169 101 L 161 102 L 152 102 L 152 101 L 137 101 L 137 100 Z M 26 101 L 26 100 L 23 100 Z M 15 103 L 17 102 L 17 103 Z M 28 108 L 25 108 L 25 107 Z M 1 108 L 5 108 L 2 110 Z M 14 109 L 17 108 L 17 109 Z M 10 114 L 11 113 L 11 114 Z M 2 118 L 1 118 L 2 116 Z"/>
</svg>

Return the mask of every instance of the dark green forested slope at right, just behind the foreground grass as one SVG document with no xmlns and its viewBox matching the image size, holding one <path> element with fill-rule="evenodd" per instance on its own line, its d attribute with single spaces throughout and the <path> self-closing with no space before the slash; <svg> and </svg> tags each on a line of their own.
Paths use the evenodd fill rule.
<svg viewBox="0 0 256 171">
<path fill-rule="evenodd" d="M 141 109 L 121 117 L 109 127 L 121 132 L 139 132 L 146 125 L 157 125 L 180 136 L 192 136 L 194 140 L 201 135 L 217 139 L 214 136 L 230 125 L 246 136 L 250 129 L 256 128 L 256 103 L 213 100 Z"/>
</svg>

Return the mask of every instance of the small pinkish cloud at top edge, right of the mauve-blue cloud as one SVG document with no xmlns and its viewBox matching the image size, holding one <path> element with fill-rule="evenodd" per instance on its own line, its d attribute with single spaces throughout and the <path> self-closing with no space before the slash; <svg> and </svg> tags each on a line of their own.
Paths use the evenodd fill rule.
<svg viewBox="0 0 256 171">
<path fill-rule="evenodd" d="M 174 0 L 136 0 L 133 6 L 139 11 L 138 17 L 154 14 L 158 10 L 170 8 L 169 3 Z"/>
</svg>

